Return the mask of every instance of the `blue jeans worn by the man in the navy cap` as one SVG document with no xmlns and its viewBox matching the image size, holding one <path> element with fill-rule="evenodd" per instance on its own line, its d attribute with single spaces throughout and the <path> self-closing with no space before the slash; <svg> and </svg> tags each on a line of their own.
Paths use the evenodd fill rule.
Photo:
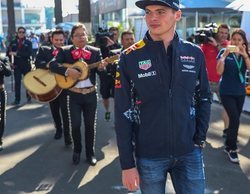
<svg viewBox="0 0 250 194">
<path fill-rule="evenodd" d="M 176 194 L 204 194 L 205 173 L 203 154 L 195 147 L 191 153 L 177 158 L 137 158 L 142 194 L 165 194 L 169 173 Z"/>
</svg>

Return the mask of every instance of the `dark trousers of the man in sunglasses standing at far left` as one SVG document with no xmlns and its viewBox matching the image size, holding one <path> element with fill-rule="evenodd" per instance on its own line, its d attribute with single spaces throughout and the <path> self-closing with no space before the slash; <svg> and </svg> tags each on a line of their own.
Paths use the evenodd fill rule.
<svg viewBox="0 0 250 194">
<path fill-rule="evenodd" d="M 20 102 L 21 99 L 21 80 L 22 75 L 25 75 L 31 70 L 31 67 L 15 67 L 14 69 L 14 78 L 15 78 L 15 100 Z M 28 92 L 26 91 L 27 99 L 30 98 Z"/>
</svg>

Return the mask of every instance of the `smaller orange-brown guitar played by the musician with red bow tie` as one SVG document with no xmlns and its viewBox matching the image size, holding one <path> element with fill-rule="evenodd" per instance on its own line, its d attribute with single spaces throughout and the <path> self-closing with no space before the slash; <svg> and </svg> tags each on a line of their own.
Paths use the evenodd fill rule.
<svg viewBox="0 0 250 194">
<path fill-rule="evenodd" d="M 119 59 L 119 55 L 105 58 L 105 61 L 107 61 L 108 63 L 113 63 L 117 59 Z M 78 79 L 73 79 L 69 76 L 55 74 L 57 85 L 63 89 L 73 87 L 78 81 L 87 79 L 89 76 L 89 70 L 98 67 L 100 63 L 101 61 L 89 65 L 84 61 L 77 61 L 74 64 L 63 63 L 62 65 L 64 67 L 77 69 L 79 72 L 81 72 L 81 76 Z"/>
</svg>

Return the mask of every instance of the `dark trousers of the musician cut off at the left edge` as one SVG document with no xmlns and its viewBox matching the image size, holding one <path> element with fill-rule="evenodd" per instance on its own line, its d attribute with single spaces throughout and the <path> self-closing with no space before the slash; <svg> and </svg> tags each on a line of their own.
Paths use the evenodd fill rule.
<svg viewBox="0 0 250 194">
<path fill-rule="evenodd" d="M 5 128 L 6 101 L 7 101 L 7 92 L 1 89 L 0 90 L 0 144 L 2 144 L 2 137 L 4 133 L 4 128 Z"/>
</svg>

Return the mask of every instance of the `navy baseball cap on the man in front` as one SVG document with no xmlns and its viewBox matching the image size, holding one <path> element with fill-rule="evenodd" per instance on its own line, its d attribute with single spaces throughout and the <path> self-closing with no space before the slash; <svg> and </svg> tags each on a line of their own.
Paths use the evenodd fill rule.
<svg viewBox="0 0 250 194">
<path fill-rule="evenodd" d="M 148 5 L 168 6 L 176 11 L 180 9 L 179 0 L 139 0 L 135 5 L 141 9 L 145 9 Z"/>
</svg>

